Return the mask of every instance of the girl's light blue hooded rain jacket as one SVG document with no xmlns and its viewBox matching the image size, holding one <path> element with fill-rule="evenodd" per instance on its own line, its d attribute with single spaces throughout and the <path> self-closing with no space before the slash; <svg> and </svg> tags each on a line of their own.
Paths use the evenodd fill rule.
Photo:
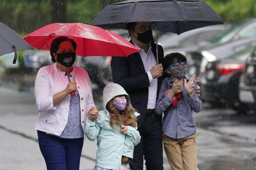
<svg viewBox="0 0 256 170">
<path fill-rule="evenodd" d="M 117 124 L 117 129 L 110 126 L 110 114 L 106 109 L 106 104 L 113 97 L 118 95 L 128 95 L 122 86 L 116 83 L 109 83 L 103 90 L 103 107 L 95 121 L 86 119 L 86 136 L 90 141 L 97 137 L 98 150 L 96 152 L 96 166 L 101 168 L 118 170 L 121 164 L 122 154 L 132 158 L 133 147 L 141 139 L 137 127 L 128 127 L 126 134 L 120 133 L 121 126 Z M 134 112 L 138 117 L 139 113 Z"/>
</svg>

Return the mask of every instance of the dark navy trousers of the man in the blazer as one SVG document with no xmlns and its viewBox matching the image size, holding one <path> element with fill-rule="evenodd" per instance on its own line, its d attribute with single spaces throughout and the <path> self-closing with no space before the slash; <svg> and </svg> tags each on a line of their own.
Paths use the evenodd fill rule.
<svg viewBox="0 0 256 170">
<path fill-rule="evenodd" d="M 163 169 L 162 125 L 155 113 L 146 116 L 138 129 L 141 141 L 134 147 L 131 170 L 143 170 L 143 155 L 147 170 Z"/>
</svg>

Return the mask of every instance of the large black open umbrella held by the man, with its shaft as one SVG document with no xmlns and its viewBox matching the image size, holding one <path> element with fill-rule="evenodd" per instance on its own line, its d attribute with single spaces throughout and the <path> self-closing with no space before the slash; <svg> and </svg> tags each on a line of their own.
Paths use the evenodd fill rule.
<svg viewBox="0 0 256 170">
<path fill-rule="evenodd" d="M 223 24 L 224 20 L 205 2 L 193 0 L 128 0 L 107 5 L 92 21 L 101 28 L 127 29 L 128 22 L 152 22 L 152 28 L 181 34 Z M 157 61 L 158 62 L 158 61 Z"/>
</svg>

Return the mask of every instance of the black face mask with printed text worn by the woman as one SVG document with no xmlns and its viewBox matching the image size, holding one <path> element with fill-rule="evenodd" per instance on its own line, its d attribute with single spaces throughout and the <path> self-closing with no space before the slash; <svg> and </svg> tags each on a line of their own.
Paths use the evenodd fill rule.
<svg viewBox="0 0 256 170">
<path fill-rule="evenodd" d="M 57 54 L 57 61 L 65 67 L 71 67 L 75 62 L 75 53 L 59 53 Z"/>
</svg>

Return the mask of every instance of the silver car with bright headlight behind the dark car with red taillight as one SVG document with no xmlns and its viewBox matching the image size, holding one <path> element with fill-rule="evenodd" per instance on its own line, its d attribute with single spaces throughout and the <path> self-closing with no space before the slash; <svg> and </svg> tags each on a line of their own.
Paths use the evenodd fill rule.
<svg viewBox="0 0 256 170">
<path fill-rule="evenodd" d="M 247 19 L 242 24 L 234 24 L 233 26 L 228 25 L 226 29 L 217 32 L 209 40 L 210 46 L 199 47 L 197 50 L 186 54 L 188 66 L 191 68 L 189 74 L 197 74 L 197 79 L 200 79 L 201 74 L 205 73 L 207 62 L 225 58 L 239 48 L 245 48 L 248 43 L 250 45 L 254 41 L 253 37 L 256 37 L 256 19 Z M 235 41 L 237 42 L 234 43 Z M 246 41 L 247 43 L 245 43 Z"/>
</svg>

